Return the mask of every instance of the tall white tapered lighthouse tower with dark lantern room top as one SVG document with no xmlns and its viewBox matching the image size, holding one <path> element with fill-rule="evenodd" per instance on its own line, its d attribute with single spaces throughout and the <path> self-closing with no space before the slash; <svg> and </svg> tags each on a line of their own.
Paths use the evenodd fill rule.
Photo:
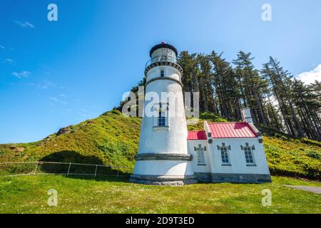
<svg viewBox="0 0 321 228">
<path fill-rule="evenodd" d="M 183 69 L 176 62 L 178 51 L 163 42 L 151 48 L 150 56 L 145 70 L 141 138 L 130 181 L 146 185 L 195 183 L 180 81 Z"/>
</svg>

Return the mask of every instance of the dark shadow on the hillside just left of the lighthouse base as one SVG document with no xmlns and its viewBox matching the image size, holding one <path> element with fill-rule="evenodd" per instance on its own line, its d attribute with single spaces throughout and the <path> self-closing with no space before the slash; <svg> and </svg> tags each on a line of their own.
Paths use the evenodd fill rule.
<svg viewBox="0 0 321 228">
<path fill-rule="evenodd" d="M 66 164 L 56 164 L 54 162 L 63 162 Z M 103 161 L 98 157 L 81 155 L 76 151 L 64 150 L 42 157 L 41 160 L 39 160 L 39 171 L 48 174 L 64 175 L 73 179 L 128 182 L 130 170 L 106 167 L 103 165 Z"/>
</svg>

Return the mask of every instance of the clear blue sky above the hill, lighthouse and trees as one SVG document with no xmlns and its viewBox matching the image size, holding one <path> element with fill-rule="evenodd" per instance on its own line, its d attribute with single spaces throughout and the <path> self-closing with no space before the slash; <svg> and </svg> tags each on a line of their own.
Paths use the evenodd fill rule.
<svg viewBox="0 0 321 228">
<path fill-rule="evenodd" d="M 58 6 L 48 21 L 47 6 Z M 262 21 L 263 4 L 272 21 Z M 321 74 L 320 0 L 0 1 L 0 143 L 41 140 L 118 105 L 148 51 L 252 52 L 301 78 Z M 320 66 L 318 68 L 318 66 Z"/>
</svg>

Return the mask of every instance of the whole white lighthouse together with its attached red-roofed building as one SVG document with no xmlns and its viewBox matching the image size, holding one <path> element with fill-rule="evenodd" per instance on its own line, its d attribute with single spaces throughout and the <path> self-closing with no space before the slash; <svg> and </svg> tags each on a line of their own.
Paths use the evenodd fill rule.
<svg viewBox="0 0 321 228">
<path fill-rule="evenodd" d="M 253 125 L 250 109 L 243 109 L 243 122 L 205 122 L 203 130 L 188 132 L 178 51 L 163 42 L 151 48 L 150 56 L 146 96 L 151 92 L 160 100 L 145 100 L 145 108 L 151 107 L 153 115 L 143 116 L 130 181 L 146 185 L 270 182 L 263 137 Z M 175 105 L 162 93 L 176 94 Z"/>
</svg>

